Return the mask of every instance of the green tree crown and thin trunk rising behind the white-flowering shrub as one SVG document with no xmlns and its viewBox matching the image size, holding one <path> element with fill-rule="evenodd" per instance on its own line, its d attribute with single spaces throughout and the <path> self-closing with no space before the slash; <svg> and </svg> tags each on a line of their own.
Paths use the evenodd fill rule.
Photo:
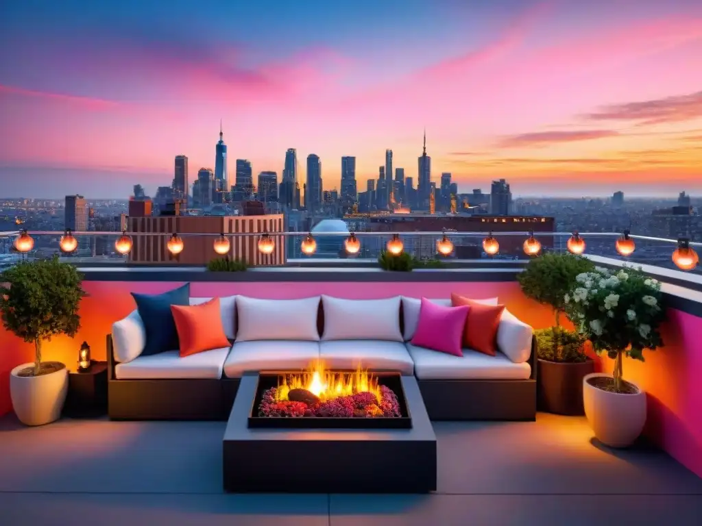
<svg viewBox="0 0 702 526">
<path fill-rule="evenodd" d="M 555 325 L 560 326 L 560 315 L 566 308 L 564 297 L 571 289 L 575 278 L 590 272 L 595 265 L 590 260 L 567 252 L 549 252 L 531 259 L 527 268 L 517 276 L 522 292 L 541 304 L 550 306 L 555 314 Z"/>
</svg>

